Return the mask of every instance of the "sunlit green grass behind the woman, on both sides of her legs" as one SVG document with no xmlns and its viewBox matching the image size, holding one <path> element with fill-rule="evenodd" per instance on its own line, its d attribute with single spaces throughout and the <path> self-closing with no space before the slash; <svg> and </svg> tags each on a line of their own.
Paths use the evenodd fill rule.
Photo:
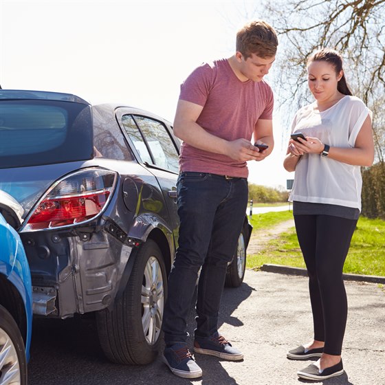
<svg viewBox="0 0 385 385">
<path fill-rule="evenodd" d="M 278 223 L 277 216 L 283 215 L 282 221 L 289 219 L 287 213 L 269 212 L 259 214 L 259 221 L 269 223 L 265 228 Z M 262 217 L 265 217 L 262 219 Z M 254 219 L 253 221 L 257 220 Z M 278 220 L 278 222 L 277 222 Z M 273 224 L 274 225 L 274 224 Z M 298 245 L 295 229 L 281 234 L 278 239 L 270 241 L 267 248 L 259 254 L 248 256 L 247 267 L 258 269 L 264 263 L 305 267 Z M 351 248 L 344 265 L 345 273 L 385 276 L 385 221 L 361 217 L 353 234 Z"/>
</svg>

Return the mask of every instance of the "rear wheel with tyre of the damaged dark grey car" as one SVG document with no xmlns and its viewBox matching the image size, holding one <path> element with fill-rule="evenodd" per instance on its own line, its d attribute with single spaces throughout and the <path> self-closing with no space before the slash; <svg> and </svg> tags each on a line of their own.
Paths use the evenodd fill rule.
<svg viewBox="0 0 385 385">
<path fill-rule="evenodd" d="M 129 282 L 113 309 L 98 311 L 102 349 L 118 364 L 148 364 L 162 341 L 166 267 L 158 245 L 148 240 L 135 256 Z"/>
</svg>

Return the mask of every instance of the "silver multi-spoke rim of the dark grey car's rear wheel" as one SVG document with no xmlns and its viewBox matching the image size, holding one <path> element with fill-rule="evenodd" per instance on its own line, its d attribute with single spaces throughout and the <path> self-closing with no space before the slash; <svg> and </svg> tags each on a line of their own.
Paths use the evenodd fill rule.
<svg viewBox="0 0 385 385">
<path fill-rule="evenodd" d="M 164 312 L 164 277 L 159 261 L 151 256 L 144 268 L 142 283 L 142 327 L 148 344 L 157 342 Z"/>
</svg>

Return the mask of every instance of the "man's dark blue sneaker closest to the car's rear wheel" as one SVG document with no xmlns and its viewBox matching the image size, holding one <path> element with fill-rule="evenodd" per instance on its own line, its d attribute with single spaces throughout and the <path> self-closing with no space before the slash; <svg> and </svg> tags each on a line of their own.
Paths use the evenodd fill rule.
<svg viewBox="0 0 385 385">
<path fill-rule="evenodd" d="M 178 377 L 197 378 L 202 375 L 202 369 L 192 358 L 186 344 L 175 344 L 166 347 L 163 353 L 163 362 Z"/>
</svg>

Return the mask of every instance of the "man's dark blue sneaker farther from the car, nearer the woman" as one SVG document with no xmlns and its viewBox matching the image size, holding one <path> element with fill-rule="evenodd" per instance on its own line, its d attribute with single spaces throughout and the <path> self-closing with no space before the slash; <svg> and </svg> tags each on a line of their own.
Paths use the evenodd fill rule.
<svg viewBox="0 0 385 385">
<path fill-rule="evenodd" d="M 214 355 L 223 360 L 243 360 L 243 354 L 238 349 L 232 347 L 232 344 L 226 341 L 218 332 L 206 338 L 195 336 L 194 351 L 199 354 Z"/>
</svg>

